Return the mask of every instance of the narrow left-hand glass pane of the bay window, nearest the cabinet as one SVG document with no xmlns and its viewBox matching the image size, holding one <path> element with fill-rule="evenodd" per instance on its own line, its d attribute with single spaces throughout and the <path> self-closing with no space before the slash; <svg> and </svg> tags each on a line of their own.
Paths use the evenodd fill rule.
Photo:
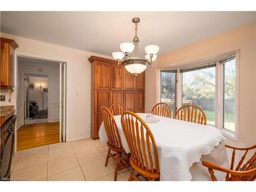
<svg viewBox="0 0 256 192">
<path fill-rule="evenodd" d="M 161 102 L 165 102 L 172 109 L 174 117 L 176 112 L 176 74 L 161 72 Z"/>
</svg>

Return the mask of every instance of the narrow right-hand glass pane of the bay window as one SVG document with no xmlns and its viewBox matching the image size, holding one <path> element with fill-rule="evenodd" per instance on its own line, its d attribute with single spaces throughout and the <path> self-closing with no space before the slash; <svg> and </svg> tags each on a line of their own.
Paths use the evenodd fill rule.
<svg viewBox="0 0 256 192">
<path fill-rule="evenodd" d="M 224 102 L 223 102 L 223 127 L 234 132 L 234 106 L 236 96 L 236 58 L 225 62 L 224 68 Z"/>
</svg>

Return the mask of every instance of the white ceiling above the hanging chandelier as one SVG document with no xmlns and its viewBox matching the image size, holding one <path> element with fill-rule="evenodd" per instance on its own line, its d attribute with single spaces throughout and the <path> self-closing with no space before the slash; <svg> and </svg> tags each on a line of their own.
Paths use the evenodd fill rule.
<svg viewBox="0 0 256 192">
<path fill-rule="evenodd" d="M 1 12 L 1 32 L 61 46 L 111 55 L 121 42 L 132 42 L 133 17 L 138 37 L 159 54 L 251 23 L 256 12 Z"/>
</svg>

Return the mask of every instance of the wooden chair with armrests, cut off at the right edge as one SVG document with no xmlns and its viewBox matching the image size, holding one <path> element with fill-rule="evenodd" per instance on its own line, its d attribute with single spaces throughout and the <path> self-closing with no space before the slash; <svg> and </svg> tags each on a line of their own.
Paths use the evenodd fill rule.
<svg viewBox="0 0 256 192">
<path fill-rule="evenodd" d="M 253 181 L 256 179 L 256 144 L 247 147 L 247 148 L 238 148 L 226 145 L 226 147 L 231 148 L 233 150 L 232 158 L 231 158 L 231 165 L 230 168 L 225 168 L 214 163 L 208 161 L 202 161 L 202 164 L 208 167 L 211 180 L 217 181 L 217 178 L 214 175 L 214 170 L 219 170 L 220 172 L 227 173 L 225 180 L 226 181 Z M 234 168 L 234 159 L 236 156 L 236 150 L 244 151 L 244 155 L 242 156 L 241 160 L 239 161 L 236 169 Z M 254 154 L 249 158 L 246 163 L 243 164 L 246 155 L 249 151 L 255 151 Z"/>
</svg>

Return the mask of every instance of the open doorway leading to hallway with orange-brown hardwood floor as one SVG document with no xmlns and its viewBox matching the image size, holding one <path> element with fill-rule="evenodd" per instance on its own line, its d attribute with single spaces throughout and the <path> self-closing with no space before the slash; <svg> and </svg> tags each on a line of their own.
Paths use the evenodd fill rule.
<svg viewBox="0 0 256 192">
<path fill-rule="evenodd" d="M 66 62 L 17 55 L 17 151 L 66 141 Z"/>
</svg>

